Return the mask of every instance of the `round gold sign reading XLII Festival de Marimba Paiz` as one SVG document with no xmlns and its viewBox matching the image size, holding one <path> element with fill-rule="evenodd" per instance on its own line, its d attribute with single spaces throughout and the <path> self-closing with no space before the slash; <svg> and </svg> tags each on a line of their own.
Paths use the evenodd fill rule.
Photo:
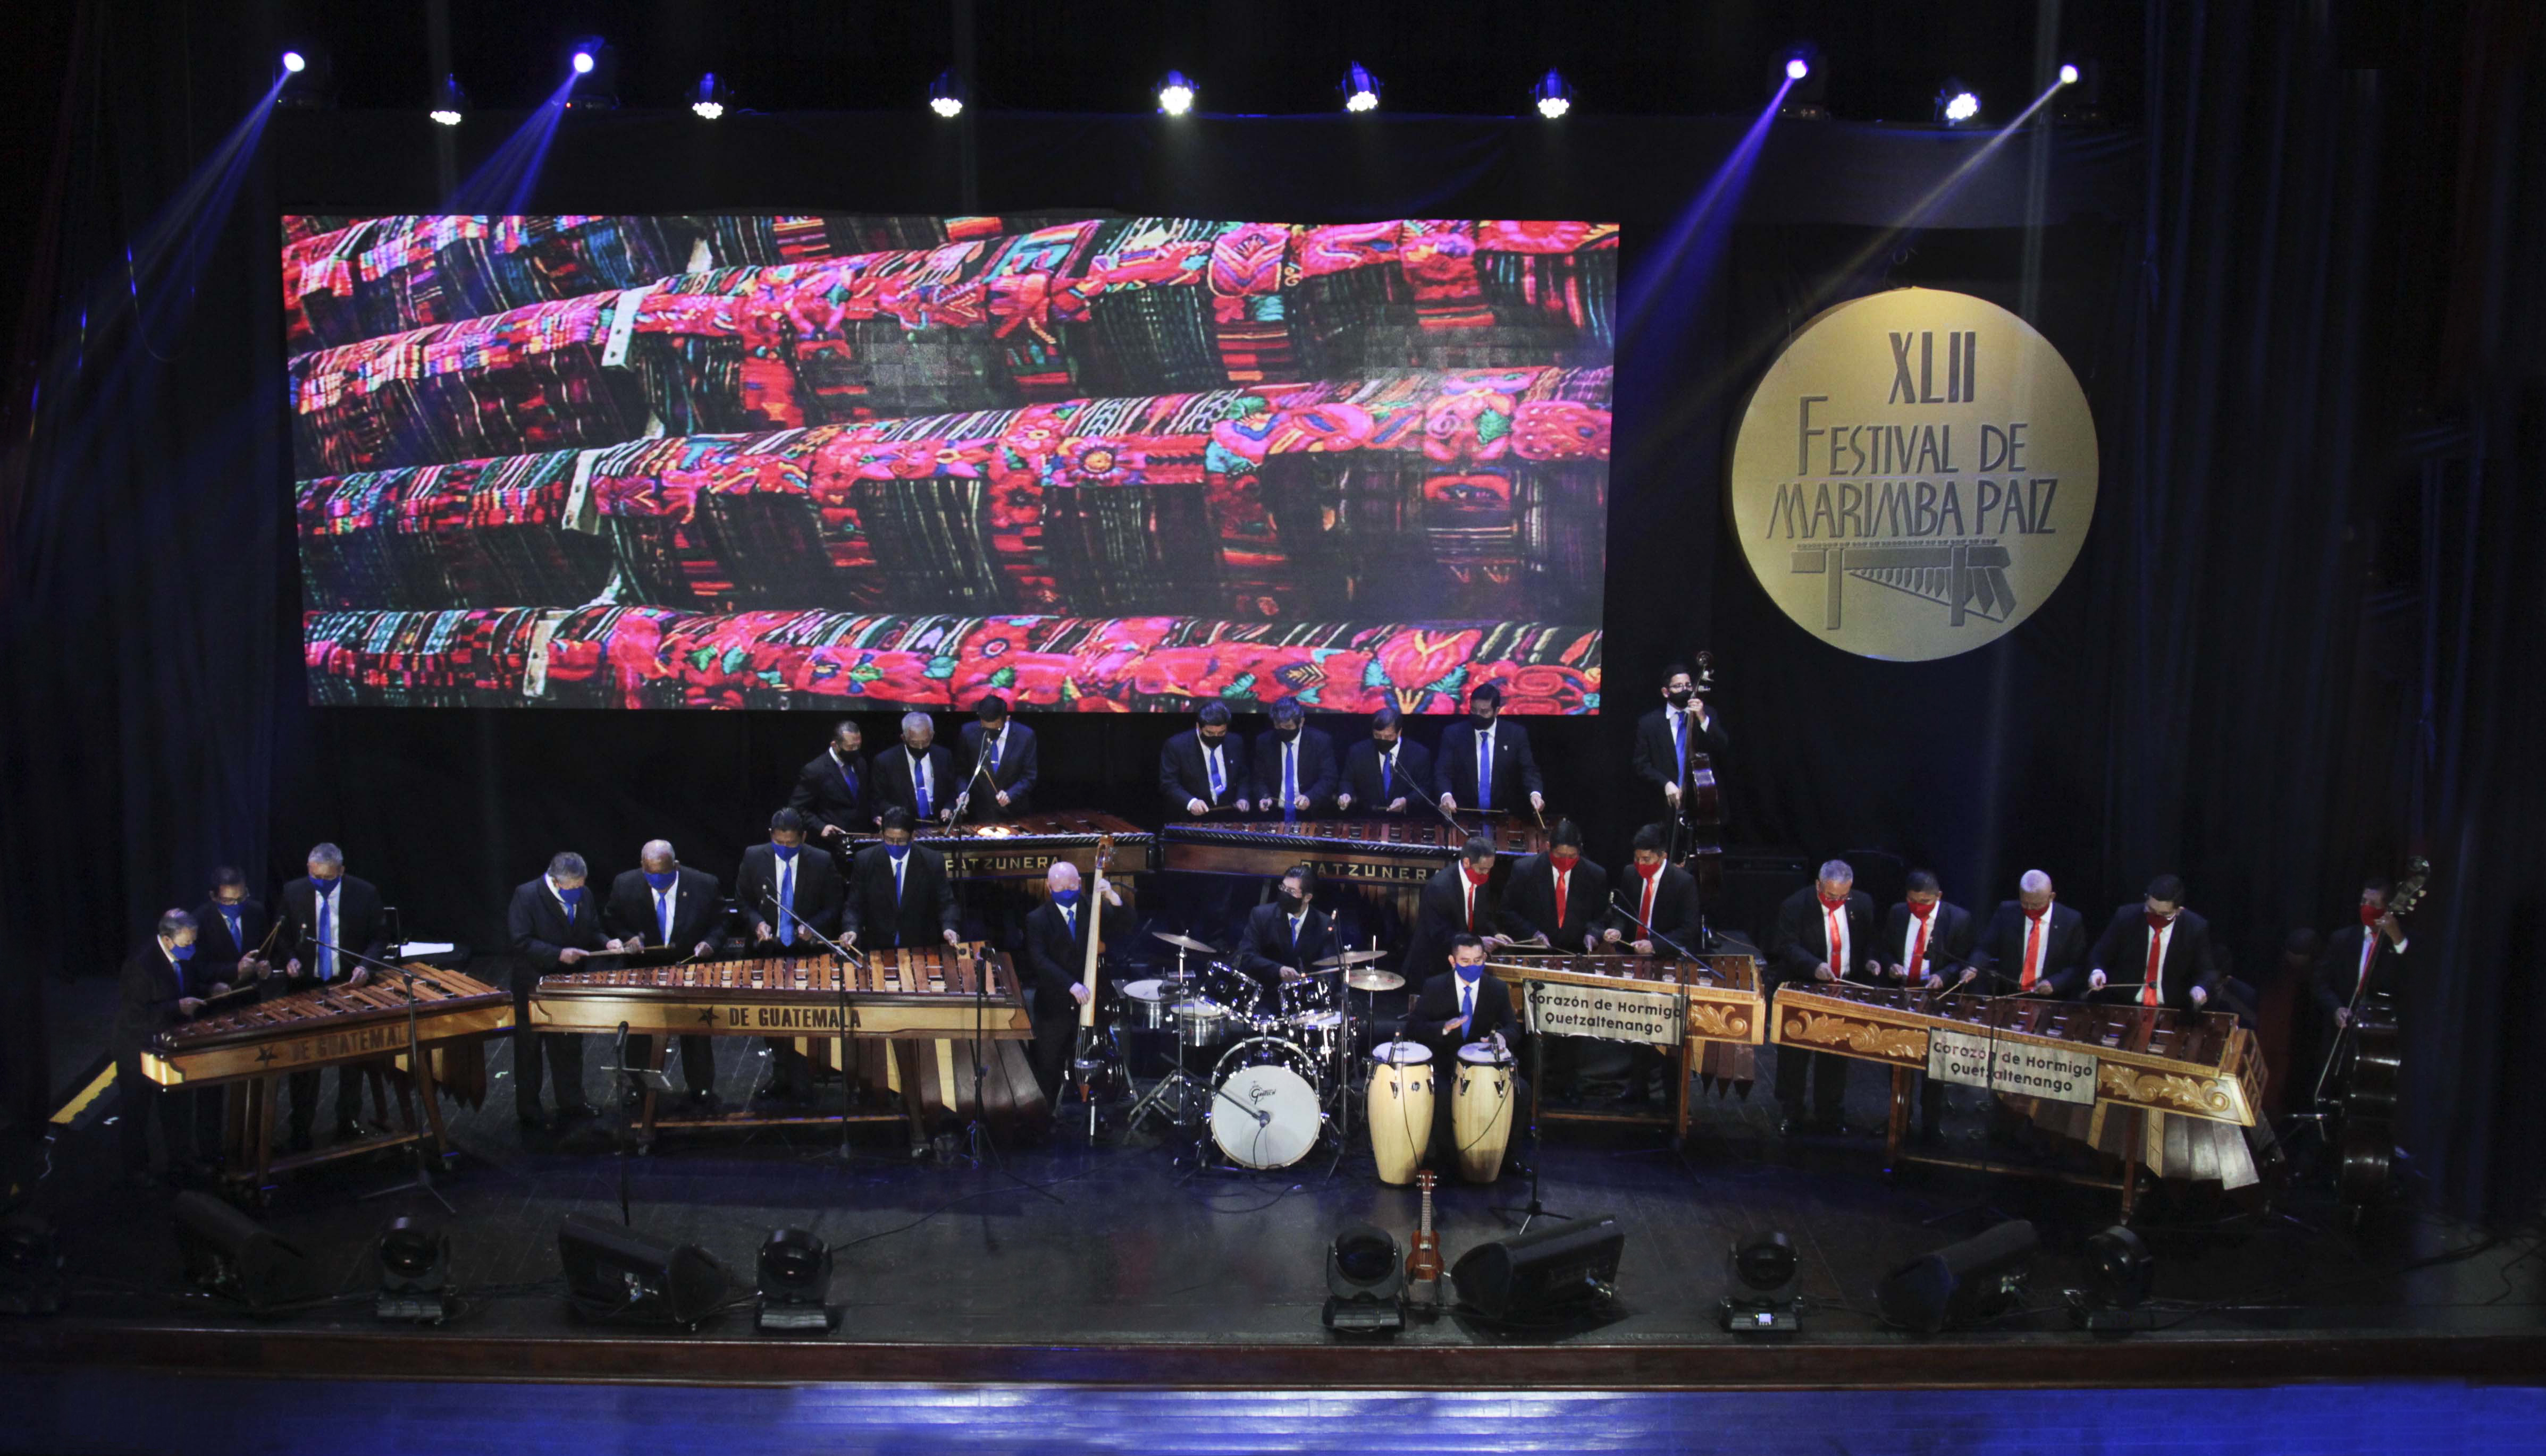
<svg viewBox="0 0 2546 1456">
<path fill-rule="evenodd" d="M 1932 288 L 1841 303 L 1752 389 L 1726 501 L 1759 585 L 1892 662 L 1996 641 L 2095 519 L 2095 417 L 2014 313 Z"/>
</svg>

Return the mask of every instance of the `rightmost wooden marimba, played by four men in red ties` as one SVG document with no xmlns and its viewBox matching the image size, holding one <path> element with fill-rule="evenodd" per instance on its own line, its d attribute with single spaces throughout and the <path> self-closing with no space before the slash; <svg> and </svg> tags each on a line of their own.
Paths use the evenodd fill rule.
<svg viewBox="0 0 2546 1456">
<path fill-rule="evenodd" d="M 1894 1163 L 2024 1171 L 1902 1151 L 1909 1074 L 1930 1072 L 1991 1087 L 2034 1123 L 2121 1158 L 2121 1176 L 2098 1186 L 2121 1191 L 2123 1219 L 2141 1166 L 2230 1189 L 2256 1181 L 2243 1130 L 2258 1125 L 2263 1051 L 2228 1013 L 1795 983 L 1777 990 L 1772 1039 L 1892 1069 Z"/>
</svg>

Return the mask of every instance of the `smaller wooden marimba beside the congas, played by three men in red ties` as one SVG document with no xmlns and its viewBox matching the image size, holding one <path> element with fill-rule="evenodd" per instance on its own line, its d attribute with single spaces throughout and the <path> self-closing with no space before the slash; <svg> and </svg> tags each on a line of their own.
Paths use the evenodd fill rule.
<svg viewBox="0 0 2546 1456">
<path fill-rule="evenodd" d="M 1673 1054 L 1670 1107 L 1660 1115 L 1591 1112 L 1548 1107 L 1551 1123 L 1655 1123 L 1668 1120 L 1675 1138 L 1688 1135 L 1688 1077 L 1749 1087 L 1757 1079 L 1754 1046 L 1767 1039 L 1767 1000 L 1759 993 L 1759 957 L 1749 952 L 1706 955 L 1698 960 L 1663 955 L 1556 955 L 1502 949 L 1487 970 L 1512 988 L 1512 1011 L 1528 1018 L 1530 985 L 1576 985 L 1594 990 L 1635 990 L 1670 995 L 1685 1008 L 1683 1036 Z M 1533 1097 L 1538 1084 L 1530 1084 Z"/>
</svg>

